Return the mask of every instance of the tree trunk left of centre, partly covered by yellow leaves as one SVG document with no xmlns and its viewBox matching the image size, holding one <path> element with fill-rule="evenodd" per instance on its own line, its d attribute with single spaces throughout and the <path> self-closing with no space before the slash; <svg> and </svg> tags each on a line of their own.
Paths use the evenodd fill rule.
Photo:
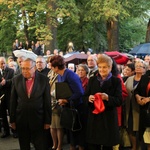
<svg viewBox="0 0 150 150">
<path fill-rule="evenodd" d="M 56 10 L 55 2 L 49 0 L 48 8 L 51 8 L 52 11 L 55 11 Z M 54 20 L 54 18 L 52 19 L 50 13 L 47 13 L 46 24 L 48 26 L 49 32 L 51 32 L 52 34 L 52 39 L 46 42 L 46 49 L 47 50 L 49 49 L 51 53 L 53 53 L 53 50 L 57 48 L 57 25 L 56 20 Z"/>
</svg>

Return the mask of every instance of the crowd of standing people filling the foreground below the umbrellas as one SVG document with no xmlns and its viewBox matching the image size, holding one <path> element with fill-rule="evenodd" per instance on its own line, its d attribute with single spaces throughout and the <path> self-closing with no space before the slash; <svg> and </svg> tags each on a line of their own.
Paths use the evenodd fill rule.
<svg viewBox="0 0 150 150">
<path fill-rule="evenodd" d="M 47 56 L 0 57 L 1 138 L 12 131 L 21 150 L 31 143 L 36 150 L 62 150 L 65 134 L 70 150 L 150 150 L 150 56 L 124 65 L 106 54 L 67 65 L 56 49 Z M 72 95 L 56 99 L 56 82 L 67 82 Z M 71 104 L 80 115 L 79 131 L 60 124 L 61 109 Z M 122 127 L 130 147 L 120 145 Z"/>
</svg>

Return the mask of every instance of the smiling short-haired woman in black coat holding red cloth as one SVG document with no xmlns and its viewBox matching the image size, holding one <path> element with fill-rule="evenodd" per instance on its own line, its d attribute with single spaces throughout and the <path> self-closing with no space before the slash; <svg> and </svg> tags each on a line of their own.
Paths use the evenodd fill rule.
<svg viewBox="0 0 150 150">
<path fill-rule="evenodd" d="M 89 79 L 85 96 L 89 101 L 87 123 L 88 150 L 109 150 L 119 144 L 117 106 L 122 104 L 121 80 L 112 76 L 112 59 L 101 54 L 97 59 L 98 73 Z M 97 99 L 96 97 L 99 96 Z M 95 113 L 95 102 L 102 101 L 105 110 Z"/>
</svg>

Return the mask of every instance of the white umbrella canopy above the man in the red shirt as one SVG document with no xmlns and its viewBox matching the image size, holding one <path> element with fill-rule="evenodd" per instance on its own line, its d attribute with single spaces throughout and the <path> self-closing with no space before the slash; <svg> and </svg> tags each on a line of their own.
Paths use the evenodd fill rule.
<svg viewBox="0 0 150 150">
<path fill-rule="evenodd" d="M 29 51 L 29 50 L 25 50 L 25 49 L 21 49 L 21 50 L 15 50 L 13 51 L 14 55 L 16 57 L 26 57 L 26 58 L 30 58 L 32 60 L 36 60 L 37 58 L 37 55 L 35 53 L 33 53 L 32 51 Z"/>
</svg>

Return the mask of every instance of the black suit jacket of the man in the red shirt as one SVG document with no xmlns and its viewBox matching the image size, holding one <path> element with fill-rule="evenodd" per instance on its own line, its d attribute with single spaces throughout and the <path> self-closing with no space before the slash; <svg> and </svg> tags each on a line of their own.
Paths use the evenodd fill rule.
<svg viewBox="0 0 150 150">
<path fill-rule="evenodd" d="M 19 129 L 37 130 L 51 122 L 51 98 L 48 78 L 36 72 L 30 98 L 22 74 L 13 79 L 10 103 L 10 122 Z"/>
</svg>

